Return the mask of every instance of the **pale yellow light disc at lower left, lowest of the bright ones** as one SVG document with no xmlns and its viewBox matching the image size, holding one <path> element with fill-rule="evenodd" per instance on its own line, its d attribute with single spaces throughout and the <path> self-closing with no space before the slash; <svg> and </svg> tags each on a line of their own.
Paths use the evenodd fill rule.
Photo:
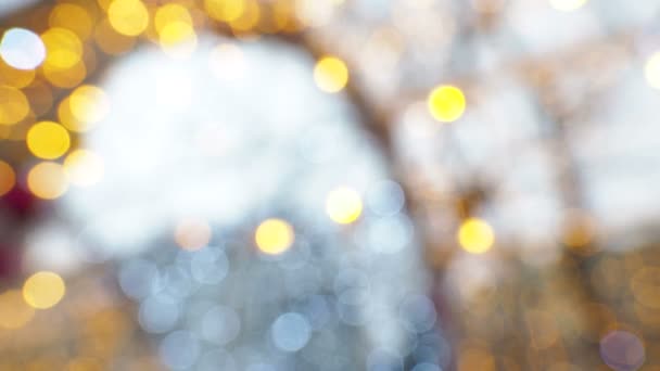
<svg viewBox="0 0 660 371">
<path fill-rule="evenodd" d="M 64 297 L 65 291 L 64 280 L 58 273 L 48 271 L 30 276 L 23 284 L 25 302 L 36 309 L 54 307 Z"/>
</svg>

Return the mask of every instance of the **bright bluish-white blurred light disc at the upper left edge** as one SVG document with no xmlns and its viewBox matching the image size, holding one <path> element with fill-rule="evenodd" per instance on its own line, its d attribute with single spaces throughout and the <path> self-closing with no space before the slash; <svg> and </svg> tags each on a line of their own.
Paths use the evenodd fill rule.
<svg viewBox="0 0 660 371">
<path fill-rule="evenodd" d="M 0 57 L 17 69 L 34 69 L 46 57 L 41 38 L 29 29 L 10 28 L 0 41 Z"/>
</svg>

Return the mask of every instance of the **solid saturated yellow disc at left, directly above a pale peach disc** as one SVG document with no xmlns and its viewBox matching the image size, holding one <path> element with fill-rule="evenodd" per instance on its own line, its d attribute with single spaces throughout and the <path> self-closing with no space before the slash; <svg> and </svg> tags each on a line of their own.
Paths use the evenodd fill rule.
<svg viewBox="0 0 660 371">
<path fill-rule="evenodd" d="M 58 158 L 71 146 L 68 131 L 62 125 L 52 121 L 35 124 L 27 132 L 26 142 L 29 152 L 45 159 Z"/>
</svg>

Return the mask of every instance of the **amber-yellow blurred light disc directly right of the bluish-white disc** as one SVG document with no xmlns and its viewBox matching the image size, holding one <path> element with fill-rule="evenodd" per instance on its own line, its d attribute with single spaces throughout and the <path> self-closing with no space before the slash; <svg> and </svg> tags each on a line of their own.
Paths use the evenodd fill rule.
<svg viewBox="0 0 660 371">
<path fill-rule="evenodd" d="M 71 68 L 82 59 L 82 42 L 73 31 L 53 27 L 41 34 L 46 46 L 43 66 L 51 68 Z"/>
</svg>

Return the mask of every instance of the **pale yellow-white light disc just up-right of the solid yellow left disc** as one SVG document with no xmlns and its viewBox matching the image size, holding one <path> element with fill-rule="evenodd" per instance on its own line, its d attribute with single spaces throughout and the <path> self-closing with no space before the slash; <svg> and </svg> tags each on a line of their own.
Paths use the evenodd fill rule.
<svg viewBox="0 0 660 371">
<path fill-rule="evenodd" d="M 105 92 L 91 85 L 84 85 L 74 90 L 68 98 L 68 105 L 73 118 L 78 124 L 71 128 L 74 131 L 87 131 L 110 111 L 110 100 Z"/>
</svg>

